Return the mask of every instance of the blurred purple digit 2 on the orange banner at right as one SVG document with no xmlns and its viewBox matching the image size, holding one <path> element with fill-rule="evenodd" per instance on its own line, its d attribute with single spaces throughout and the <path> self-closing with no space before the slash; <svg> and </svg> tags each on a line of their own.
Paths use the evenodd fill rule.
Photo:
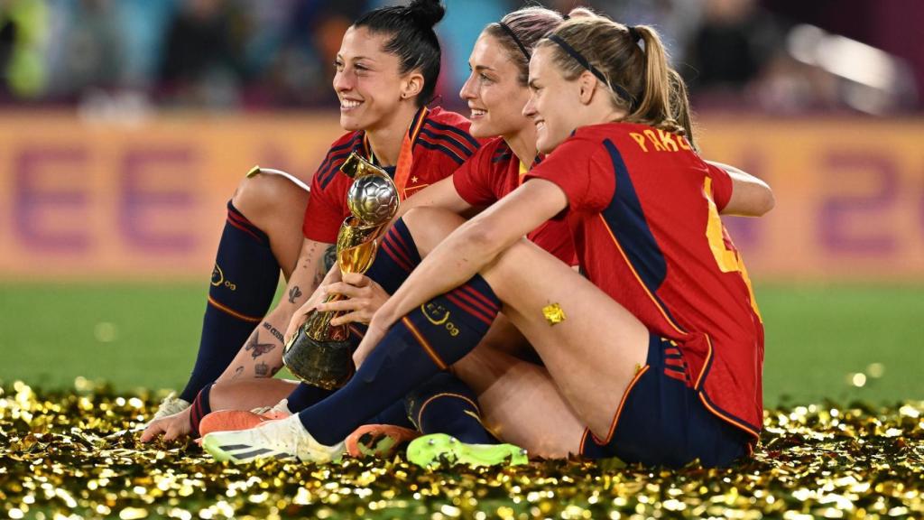
<svg viewBox="0 0 924 520">
<path fill-rule="evenodd" d="M 848 178 L 875 180 L 876 187 L 860 195 L 830 195 L 821 204 L 821 244 L 835 254 L 889 256 L 897 242 L 893 226 L 885 222 L 885 212 L 898 197 L 898 170 L 885 155 L 863 152 L 834 152 L 824 161 L 827 186 L 846 184 Z M 857 233 L 851 225 L 873 224 L 877 231 Z"/>
</svg>

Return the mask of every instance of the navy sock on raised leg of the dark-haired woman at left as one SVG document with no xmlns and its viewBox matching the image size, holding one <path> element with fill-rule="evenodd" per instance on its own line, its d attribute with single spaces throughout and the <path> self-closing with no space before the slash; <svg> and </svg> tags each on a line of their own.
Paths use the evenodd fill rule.
<svg viewBox="0 0 924 520">
<path fill-rule="evenodd" d="M 180 399 L 192 401 L 202 387 L 221 376 L 266 315 L 278 282 L 279 263 L 269 237 L 228 201 L 202 318 L 199 354 Z"/>
</svg>

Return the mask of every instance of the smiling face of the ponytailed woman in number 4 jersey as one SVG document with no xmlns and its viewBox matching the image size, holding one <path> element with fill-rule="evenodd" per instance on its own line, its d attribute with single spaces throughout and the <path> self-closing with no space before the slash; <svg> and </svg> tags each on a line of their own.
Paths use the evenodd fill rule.
<svg viewBox="0 0 924 520">
<path fill-rule="evenodd" d="M 523 113 L 536 125 L 536 148 L 548 154 L 583 122 L 586 105 L 580 101 L 580 85 L 565 80 L 553 62 L 552 48 L 543 45 L 529 60 L 529 91 Z"/>
</svg>

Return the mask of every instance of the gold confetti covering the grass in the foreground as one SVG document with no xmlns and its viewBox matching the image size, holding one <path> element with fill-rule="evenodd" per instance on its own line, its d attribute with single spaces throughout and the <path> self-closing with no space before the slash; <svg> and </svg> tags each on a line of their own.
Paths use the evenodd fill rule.
<svg viewBox="0 0 924 520">
<path fill-rule="evenodd" d="M 770 410 L 734 468 L 616 460 L 425 470 L 403 457 L 219 464 L 194 444 L 138 443 L 154 396 L 79 381 L 0 394 L 0 517 L 853 518 L 921 517 L 924 402 Z"/>
</svg>

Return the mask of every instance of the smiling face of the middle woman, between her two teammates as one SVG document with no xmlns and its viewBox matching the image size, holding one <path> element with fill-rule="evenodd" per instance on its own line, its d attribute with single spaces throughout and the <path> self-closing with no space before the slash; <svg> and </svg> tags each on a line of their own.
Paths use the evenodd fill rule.
<svg viewBox="0 0 924 520">
<path fill-rule="evenodd" d="M 519 80 L 517 65 L 497 40 L 482 32 L 468 57 L 471 74 L 459 95 L 471 110 L 471 134 L 512 137 L 529 128 L 523 106 L 529 89 Z"/>
</svg>

